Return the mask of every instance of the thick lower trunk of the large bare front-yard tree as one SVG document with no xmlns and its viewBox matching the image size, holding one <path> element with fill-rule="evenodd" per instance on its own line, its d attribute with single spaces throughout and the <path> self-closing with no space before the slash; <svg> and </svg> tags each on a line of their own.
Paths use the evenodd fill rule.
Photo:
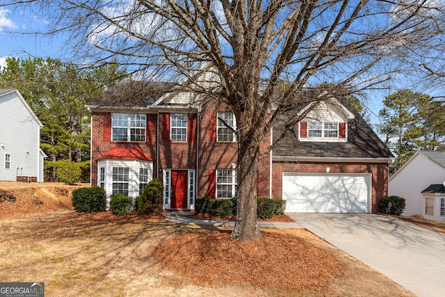
<svg viewBox="0 0 445 297">
<path fill-rule="evenodd" d="M 238 143 L 236 221 L 231 236 L 239 241 L 261 238 L 257 222 L 259 143 Z"/>
</svg>

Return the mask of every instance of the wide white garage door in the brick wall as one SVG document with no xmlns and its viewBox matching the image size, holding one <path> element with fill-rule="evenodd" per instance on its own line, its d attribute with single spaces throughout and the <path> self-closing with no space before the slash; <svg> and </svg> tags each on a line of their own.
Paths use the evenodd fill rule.
<svg viewBox="0 0 445 297">
<path fill-rule="evenodd" d="M 371 174 L 283 173 L 286 212 L 371 212 Z"/>
</svg>

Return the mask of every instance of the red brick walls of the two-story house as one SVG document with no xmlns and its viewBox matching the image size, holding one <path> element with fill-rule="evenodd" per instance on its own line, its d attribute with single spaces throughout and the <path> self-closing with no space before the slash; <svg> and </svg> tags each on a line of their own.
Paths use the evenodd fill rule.
<svg viewBox="0 0 445 297">
<path fill-rule="evenodd" d="M 111 147 L 138 147 L 153 160 L 153 177 L 163 180 L 163 170 L 195 170 L 195 198 L 215 197 L 214 172 L 217 169 L 236 168 L 237 143 L 216 141 L 217 111 L 229 111 L 227 106 L 207 104 L 202 112 L 188 111 L 187 141 L 170 141 L 170 114 L 187 111 L 147 112 L 146 141 L 111 141 L 111 112 L 92 111 L 91 181 L 97 185 L 97 159 Z M 116 111 L 122 113 L 122 111 Z M 270 135 L 264 138 L 261 151 L 270 145 Z M 274 161 L 270 154 L 259 160 L 257 191 L 260 198 L 282 198 L 283 172 L 349 172 L 371 173 L 372 212 L 380 210 L 380 199 L 387 195 L 387 163 L 320 163 Z M 271 180 L 271 182 L 270 182 Z M 271 191 L 270 191 L 271 186 Z"/>
</svg>

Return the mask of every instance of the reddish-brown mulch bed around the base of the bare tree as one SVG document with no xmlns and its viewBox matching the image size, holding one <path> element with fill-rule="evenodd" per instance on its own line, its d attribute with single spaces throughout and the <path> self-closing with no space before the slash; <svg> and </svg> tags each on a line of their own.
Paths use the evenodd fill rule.
<svg viewBox="0 0 445 297">
<path fill-rule="evenodd" d="M 163 241 L 161 264 L 198 285 L 252 284 L 264 289 L 323 291 L 345 273 L 329 251 L 291 234 L 261 232 L 241 242 L 229 231 L 202 230 Z"/>
</svg>

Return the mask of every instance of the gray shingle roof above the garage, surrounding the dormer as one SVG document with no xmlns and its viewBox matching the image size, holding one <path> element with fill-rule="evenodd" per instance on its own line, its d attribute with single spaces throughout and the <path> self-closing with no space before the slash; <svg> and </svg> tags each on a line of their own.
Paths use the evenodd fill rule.
<svg viewBox="0 0 445 297">
<path fill-rule="evenodd" d="M 318 93 L 318 95 L 319 94 L 320 93 Z M 314 96 L 316 96 L 316 92 L 314 91 L 307 93 L 305 95 L 306 98 L 296 100 L 293 111 L 289 111 L 289 113 L 280 116 L 276 125 L 273 127 L 275 138 L 282 134 L 289 118 L 307 105 L 308 97 L 314 98 Z M 348 121 L 348 141 L 299 141 L 296 133 L 289 133 L 283 141 L 274 148 L 273 156 L 281 157 L 281 159 L 286 156 L 311 158 L 393 158 L 394 155 L 391 151 L 388 150 L 353 106 L 349 104 L 346 99 L 338 100 L 355 116 L 353 120 Z M 301 102 L 303 102 L 303 104 L 301 104 Z"/>
</svg>

